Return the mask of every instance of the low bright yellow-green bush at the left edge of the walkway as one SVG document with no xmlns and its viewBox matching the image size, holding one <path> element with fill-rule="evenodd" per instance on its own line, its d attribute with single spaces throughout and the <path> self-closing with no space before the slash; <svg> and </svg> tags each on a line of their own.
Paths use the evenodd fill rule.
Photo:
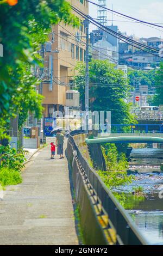
<svg viewBox="0 0 163 256">
<path fill-rule="evenodd" d="M 8 167 L 1 167 L 0 182 L 2 186 L 20 184 L 22 182 L 21 174 L 20 172 L 11 170 Z"/>
</svg>

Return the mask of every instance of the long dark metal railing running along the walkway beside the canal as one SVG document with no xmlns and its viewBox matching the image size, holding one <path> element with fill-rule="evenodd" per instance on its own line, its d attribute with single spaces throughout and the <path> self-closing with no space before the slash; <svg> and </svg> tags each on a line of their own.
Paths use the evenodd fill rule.
<svg viewBox="0 0 163 256">
<path fill-rule="evenodd" d="M 72 157 L 73 161 L 77 161 L 79 166 L 82 168 L 85 176 L 85 182 L 90 184 L 91 190 L 93 190 L 96 194 L 97 200 L 95 204 L 100 203 L 102 205 L 104 214 L 109 217 L 110 225 L 116 230 L 117 244 L 147 245 L 145 237 L 143 237 L 140 231 L 136 228 L 127 211 L 122 208 L 120 203 L 118 203 L 117 199 L 108 189 L 108 187 L 105 186 L 99 175 L 89 165 L 88 161 L 81 153 L 76 142 L 74 141 L 74 135 L 76 134 L 79 135 L 79 131 L 77 131 L 77 133 L 76 131 L 70 133 L 68 147 L 71 147 L 72 151 L 76 150 L 77 155 L 72 156 L 72 151 L 70 152 L 69 150 L 69 158 Z M 76 175 L 78 176 L 78 174 Z M 79 188 L 76 188 L 76 190 L 79 190 Z"/>
</svg>

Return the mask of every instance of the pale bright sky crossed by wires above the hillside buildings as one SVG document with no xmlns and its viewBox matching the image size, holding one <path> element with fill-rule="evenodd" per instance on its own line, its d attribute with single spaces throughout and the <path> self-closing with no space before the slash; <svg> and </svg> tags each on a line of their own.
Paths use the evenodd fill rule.
<svg viewBox="0 0 163 256">
<path fill-rule="evenodd" d="M 97 3 L 97 0 L 91 0 Z M 162 0 L 106 0 L 107 7 L 119 11 L 120 13 L 136 17 L 140 20 L 145 20 L 153 23 L 162 23 L 163 26 L 163 1 Z M 95 5 L 89 5 L 90 16 L 97 17 L 97 7 Z M 108 19 L 111 20 L 111 13 L 108 13 Z M 139 23 L 124 22 L 129 21 L 127 19 L 122 19 L 119 16 L 113 15 L 114 25 L 117 25 L 121 31 L 126 31 L 128 35 L 134 34 L 135 36 L 151 37 L 158 36 L 163 38 L 163 28 L 158 28 L 161 31 L 141 25 Z M 108 22 L 111 25 L 111 21 Z M 91 29 L 95 28 L 90 26 Z"/>
</svg>

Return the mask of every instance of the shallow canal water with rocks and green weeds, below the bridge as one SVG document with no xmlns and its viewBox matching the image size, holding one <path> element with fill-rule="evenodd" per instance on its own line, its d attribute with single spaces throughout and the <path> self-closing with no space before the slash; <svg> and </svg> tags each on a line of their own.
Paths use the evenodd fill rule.
<svg viewBox="0 0 163 256">
<path fill-rule="evenodd" d="M 130 185 L 118 187 L 115 194 L 120 196 L 121 204 L 148 243 L 163 245 L 163 173 L 160 173 L 163 150 L 134 149 L 129 163 L 131 172 L 135 171 L 132 174 L 135 180 Z M 139 186 L 145 197 L 133 194 Z"/>
</svg>

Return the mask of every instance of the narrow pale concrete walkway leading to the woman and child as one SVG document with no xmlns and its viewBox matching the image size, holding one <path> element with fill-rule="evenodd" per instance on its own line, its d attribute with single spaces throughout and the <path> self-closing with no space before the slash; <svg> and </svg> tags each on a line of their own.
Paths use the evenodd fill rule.
<svg viewBox="0 0 163 256">
<path fill-rule="evenodd" d="M 66 144 L 66 143 L 65 143 Z M 67 159 L 37 152 L 0 201 L 0 245 L 78 245 Z"/>
</svg>

